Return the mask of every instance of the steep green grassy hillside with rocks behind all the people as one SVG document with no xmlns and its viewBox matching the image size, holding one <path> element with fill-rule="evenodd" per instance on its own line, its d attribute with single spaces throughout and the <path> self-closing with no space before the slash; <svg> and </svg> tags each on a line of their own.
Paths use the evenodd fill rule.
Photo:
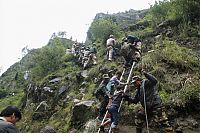
<svg viewBox="0 0 200 133">
<path fill-rule="evenodd" d="M 140 74 L 143 67 L 158 78 L 159 94 L 170 121 L 177 127 L 176 119 L 199 111 L 200 25 L 197 23 L 198 15 L 195 20 L 185 14 L 182 14 L 184 18 L 180 17 L 177 10 L 185 7 L 176 2 L 181 1 L 156 3 L 145 13 L 141 11 L 144 16 L 134 21 L 128 19 L 127 23 L 121 20 L 138 15 L 138 12 L 95 17 L 88 30 L 86 45 L 96 43 L 97 65 L 85 71 L 72 54 L 65 53 L 66 48 L 71 48 L 74 43 L 72 40 L 54 38 L 48 45 L 31 50 L 0 77 L 0 110 L 9 104 L 19 106 L 23 119 L 17 126 L 22 132 L 36 133 L 45 125 L 55 127 L 59 133 L 83 132 L 84 122 L 94 119 L 97 114 L 93 92 L 102 74 L 110 70 L 122 70 L 122 57 L 117 56 L 113 62 L 106 61 L 105 41 L 113 34 L 120 48 L 121 39 L 128 34 L 140 37 L 143 44 L 142 61 L 137 64 L 134 74 Z M 190 6 L 194 5 L 189 3 Z M 195 6 L 199 6 L 198 2 Z M 175 10 L 176 7 L 179 8 Z M 30 73 L 26 80 L 24 74 L 27 70 Z M 84 76 L 85 72 L 87 76 Z M 76 100 L 95 101 L 90 109 L 80 112 L 84 115 L 82 122 L 73 121 Z M 121 111 L 121 123 L 134 125 L 133 113 L 138 106 L 124 106 L 127 109 Z M 198 116 L 192 115 L 192 118 L 199 121 Z M 191 128 L 198 127 L 199 124 Z"/>
</svg>

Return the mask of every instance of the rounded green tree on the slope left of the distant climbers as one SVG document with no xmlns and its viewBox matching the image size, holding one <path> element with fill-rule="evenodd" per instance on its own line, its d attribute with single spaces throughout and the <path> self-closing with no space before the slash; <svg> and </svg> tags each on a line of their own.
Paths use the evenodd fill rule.
<svg viewBox="0 0 200 133">
<path fill-rule="evenodd" d="M 54 41 L 53 45 L 40 49 L 38 54 L 32 58 L 34 67 L 32 74 L 36 77 L 44 77 L 47 74 L 58 70 L 63 62 L 65 48 L 59 39 Z"/>
</svg>

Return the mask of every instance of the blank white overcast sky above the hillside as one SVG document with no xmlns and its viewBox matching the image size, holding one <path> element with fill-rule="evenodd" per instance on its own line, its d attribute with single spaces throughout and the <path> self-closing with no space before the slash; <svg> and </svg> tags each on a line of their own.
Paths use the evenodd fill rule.
<svg viewBox="0 0 200 133">
<path fill-rule="evenodd" d="M 21 49 L 40 48 L 52 33 L 85 41 L 96 13 L 150 7 L 155 0 L 0 0 L 0 67 L 6 71 L 21 58 Z"/>
</svg>

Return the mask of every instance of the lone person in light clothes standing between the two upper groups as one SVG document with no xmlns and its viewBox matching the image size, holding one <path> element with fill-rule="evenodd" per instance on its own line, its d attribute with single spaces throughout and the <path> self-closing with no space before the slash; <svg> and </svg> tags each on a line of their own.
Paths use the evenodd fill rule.
<svg viewBox="0 0 200 133">
<path fill-rule="evenodd" d="M 109 39 L 106 41 L 106 45 L 107 45 L 107 56 L 108 56 L 108 60 L 112 61 L 113 59 L 113 52 L 114 52 L 114 47 L 116 45 L 116 41 L 114 39 L 113 35 L 109 36 Z"/>
</svg>

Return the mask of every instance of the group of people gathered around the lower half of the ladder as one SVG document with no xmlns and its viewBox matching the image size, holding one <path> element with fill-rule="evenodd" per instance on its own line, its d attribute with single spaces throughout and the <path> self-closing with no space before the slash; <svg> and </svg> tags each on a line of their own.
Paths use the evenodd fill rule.
<svg viewBox="0 0 200 133">
<path fill-rule="evenodd" d="M 118 72 L 116 72 L 117 75 Z M 149 122 L 155 122 L 161 128 L 164 127 L 165 133 L 173 133 L 173 129 L 168 122 L 168 118 L 164 112 L 164 107 L 162 106 L 162 101 L 158 92 L 156 90 L 157 79 L 143 71 L 145 79 L 142 79 L 139 76 L 133 76 L 130 83 L 122 83 L 118 80 L 121 76 L 118 75 L 116 78 L 117 82 L 113 82 L 114 75 L 112 78 L 109 78 L 107 74 L 103 75 L 102 83 L 100 84 L 97 90 L 102 90 L 101 98 L 101 106 L 99 109 L 99 115 L 97 119 L 100 121 L 103 120 L 106 111 L 108 111 L 110 119 L 107 119 L 100 125 L 100 131 L 104 132 L 104 126 L 108 123 L 111 123 L 111 132 L 116 133 L 117 125 L 119 122 L 119 107 L 122 101 L 122 98 L 129 103 L 137 104 L 141 103 L 142 109 L 138 110 L 135 115 L 135 124 L 136 124 L 136 133 L 142 133 L 142 129 L 144 127 L 144 123 L 146 122 L 146 115 L 148 116 Z M 108 84 L 112 82 L 114 91 L 109 90 Z M 132 97 L 126 92 L 124 92 L 124 86 L 128 84 L 133 84 L 136 88 L 135 95 Z M 100 96 L 99 96 L 100 97 Z M 144 100 L 145 98 L 145 100 Z M 146 112 L 145 112 L 146 111 Z"/>
</svg>

